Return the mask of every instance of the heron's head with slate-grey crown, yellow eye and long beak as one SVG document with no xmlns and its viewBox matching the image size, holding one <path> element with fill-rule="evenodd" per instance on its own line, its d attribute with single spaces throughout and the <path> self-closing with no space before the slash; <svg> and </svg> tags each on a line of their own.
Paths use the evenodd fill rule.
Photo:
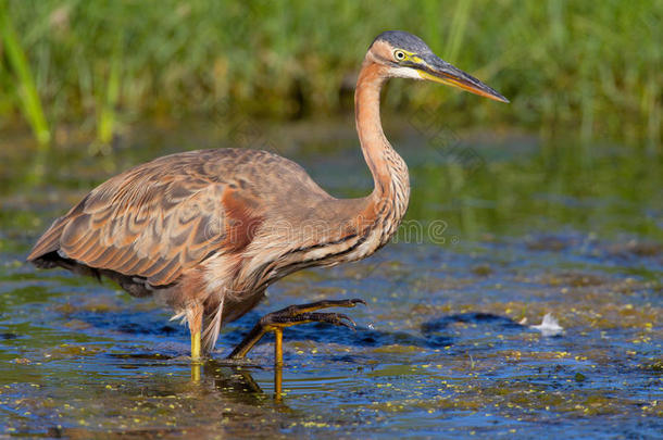
<svg viewBox="0 0 663 440">
<path fill-rule="evenodd" d="M 378 35 L 371 45 L 366 58 L 383 65 L 384 75 L 387 77 L 428 79 L 496 101 L 509 102 L 506 98 L 474 76 L 433 53 L 420 37 L 403 30 L 387 30 Z"/>
</svg>

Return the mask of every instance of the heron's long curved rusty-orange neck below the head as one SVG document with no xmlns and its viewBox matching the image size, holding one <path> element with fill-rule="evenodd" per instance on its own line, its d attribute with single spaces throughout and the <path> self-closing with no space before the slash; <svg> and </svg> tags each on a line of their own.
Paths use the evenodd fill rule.
<svg viewBox="0 0 663 440">
<path fill-rule="evenodd" d="M 391 204 L 390 214 L 398 227 L 410 200 L 410 177 L 408 165 L 383 131 L 379 96 L 387 79 L 383 68 L 368 58 L 364 60 L 354 92 L 354 111 L 362 152 L 375 184 L 370 199 L 379 205 Z"/>
</svg>

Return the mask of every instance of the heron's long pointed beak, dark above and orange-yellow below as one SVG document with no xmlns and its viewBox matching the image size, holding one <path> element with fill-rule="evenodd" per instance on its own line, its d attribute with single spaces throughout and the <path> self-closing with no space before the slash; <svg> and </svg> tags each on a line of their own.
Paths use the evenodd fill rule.
<svg viewBox="0 0 663 440">
<path fill-rule="evenodd" d="M 506 98 L 491 87 L 436 55 L 431 54 L 424 58 L 424 62 L 417 63 L 414 67 L 423 79 L 458 87 L 496 101 L 509 102 Z"/>
</svg>

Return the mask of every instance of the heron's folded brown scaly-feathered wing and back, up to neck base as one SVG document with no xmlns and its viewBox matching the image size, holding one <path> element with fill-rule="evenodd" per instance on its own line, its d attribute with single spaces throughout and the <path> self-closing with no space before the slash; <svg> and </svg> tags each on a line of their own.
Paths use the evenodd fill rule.
<svg viewBox="0 0 663 440">
<path fill-rule="evenodd" d="M 167 286 L 215 253 L 241 253 L 265 223 L 286 215 L 303 222 L 310 206 L 332 199 L 299 165 L 265 151 L 173 154 L 93 189 L 53 222 L 27 260 Z"/>
</svg>

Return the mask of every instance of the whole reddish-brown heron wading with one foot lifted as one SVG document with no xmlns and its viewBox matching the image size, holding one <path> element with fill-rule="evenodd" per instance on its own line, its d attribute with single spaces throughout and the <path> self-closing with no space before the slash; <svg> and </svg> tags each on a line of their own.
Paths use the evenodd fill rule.
<svg viewBox="0 0 663 440">
<path fill-rule="evenodd" d="M 364 58 L 354 93 L 356 131 L 374 179 L 371 194 L 336 199 L 298 164 L 248 149 L 189 151 L 120 174 L 55 219 L 27 260 L 105 276 L 134 297 L 158 297 L 186 319 L 191 357 L 214 348 L 223 324 L 239 318 L 265 289 L 296 271 L 365 259 L 385 246 L 408 208 L 408 166 L 380 124 L 389 78 L 428 79 L 496 101 L 504 97 L 435 55 L 418 37 L 380 34 Z M 229 357 L 243 357 L 267 331 L 320 322 L 353 325 L 330 306 L 292 305 L 264 316 Z"/>
</svg>

